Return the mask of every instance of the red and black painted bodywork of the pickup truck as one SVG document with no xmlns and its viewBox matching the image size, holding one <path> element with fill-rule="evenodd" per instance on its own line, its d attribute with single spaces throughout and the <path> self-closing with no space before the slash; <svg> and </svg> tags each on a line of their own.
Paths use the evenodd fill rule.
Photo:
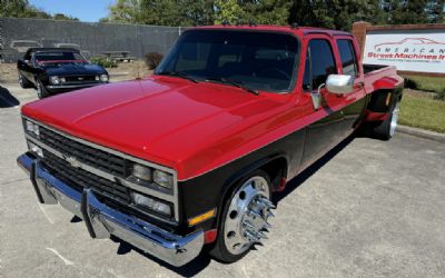
<svg viewBox="0 0 445 278">
<path fill-rule="evenodd" d="M 314 109 L 301 89 L 310 39 L 333 47 L 337 72 L 343 68 L 336 41 L 356 40 L 346 32 L 288 27 L 206 27 L 285 32 L 299 39 L 295 87 L 286 93 L 247 93 L 209 82 L 168 76 L 111 83 L 29 103 L 26 117 L 73 137 L 171 168 L 178 177 L 178 234 L 214 230 L 227 193 L 254 169 L 265 169 L 274 187 L 289 180 L 349 136 L 363 121 L 382 121 L 400 98 L 396 69 L 369 72 L 359 63 L 354 92 L 322 90 L 326 105 Z M 389 103 L 386 96 L 390 95 Z M 187 219 L 216 209 L 217 217 L 189 227 Z M 208 240 L 208 241 L 211 241 Z"/>
</svg>

